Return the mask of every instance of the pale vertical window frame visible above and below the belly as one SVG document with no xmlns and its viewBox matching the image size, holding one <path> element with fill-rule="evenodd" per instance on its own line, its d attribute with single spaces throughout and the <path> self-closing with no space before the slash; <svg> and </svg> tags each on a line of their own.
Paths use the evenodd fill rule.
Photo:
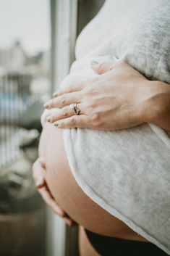
<svg viewBox="0 0 170 256">
<path fill-rule="evenodd" d="M 78 0 L 51 0 L 51 95 L 69 73 L 75 60 Z M 70 229 L 47 210 L 47 255 L 78 256 L 77 228 Z"/>
</svg>

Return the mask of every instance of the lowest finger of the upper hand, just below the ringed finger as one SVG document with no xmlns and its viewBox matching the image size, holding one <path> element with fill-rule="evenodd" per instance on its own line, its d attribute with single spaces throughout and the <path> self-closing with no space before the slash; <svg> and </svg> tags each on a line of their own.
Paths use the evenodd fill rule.
<svg viewBox="0 0 170 256">
<path fill-rule="evenodd" d="M 89 118 L 87 115 L 73 115 L 63 120 L 57 120 L 54 125 L 57 128 L 88 128 Z"/>
</svg>

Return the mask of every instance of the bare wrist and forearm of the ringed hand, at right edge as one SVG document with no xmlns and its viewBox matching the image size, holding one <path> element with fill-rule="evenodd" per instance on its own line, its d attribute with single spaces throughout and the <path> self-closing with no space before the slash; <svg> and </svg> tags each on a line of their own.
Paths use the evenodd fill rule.
<svg viewBox="0 0 170 256">
<path fill-rule="evenodd" d="M 148 85 L 150 96 L 143 106 L 144 120 L 170 131 L 170 86 L 159 81 L 148 81 Z"/>
</svg>

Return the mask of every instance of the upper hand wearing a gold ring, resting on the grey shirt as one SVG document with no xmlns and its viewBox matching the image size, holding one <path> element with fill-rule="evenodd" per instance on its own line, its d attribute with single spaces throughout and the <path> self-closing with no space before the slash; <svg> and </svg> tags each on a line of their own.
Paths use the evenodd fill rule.
<svg viewBox="0 0 170 256">
<path fill-rule="evenodd" d="M 152 85 L 126 62 L 92 65 L 93 79 L 78 82 L 54 94 L 44 107 L 59 107 L 48 122 L 58 128 L 117 130 L 145 122 L 145 104 L 153 96 Z M 79 115 L 72 104 L 77 103 Z M 71 106 L 70 106 L 71 104 Z"/>
</svg>

